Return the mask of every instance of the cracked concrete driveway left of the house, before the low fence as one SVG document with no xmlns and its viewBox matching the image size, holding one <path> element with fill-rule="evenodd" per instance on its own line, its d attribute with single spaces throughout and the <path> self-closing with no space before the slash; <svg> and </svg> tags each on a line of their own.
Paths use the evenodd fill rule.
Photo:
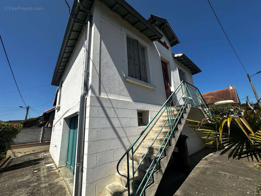
<svg viewBox="0 0 261 196">
<path fill-rule="evenodd" d="M 48 151 L 10 158 L 0 168 L 0 179 L 5 196 L 71 195 Z"/>
</svg>

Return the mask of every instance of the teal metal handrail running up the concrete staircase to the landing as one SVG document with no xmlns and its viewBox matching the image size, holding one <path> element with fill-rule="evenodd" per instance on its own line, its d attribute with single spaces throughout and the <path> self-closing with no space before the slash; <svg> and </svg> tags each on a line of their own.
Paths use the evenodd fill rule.
<svg viewBox="0 0 261 196">
<path fill-rule="evenodd" d="M 193 90 L 189 90 L 189 88 L 193 89 Z M 190 91 L 193 91 L 193 93 L 191 93 Z M 190 96 L 189 96 L 190 95 Z M 193 95 L 193 96 L 192 96 Z M 171 105 L 173 105 L 173 100 L 175 98 L 177 98 L 179 96 L 179 100 L 175 100 L 177 101 L 176 105 L 173 107 Z M 183 100 L 182 97 L 184 97 L 185 99 Z M 196 98 L 196 102 L 193 99 L 193 97 Z M 181 100 L 182 99 L 182 100 Z M 191 102 L 192 100 L 192 102 Z M 180 103 L 180 109 L 177 112 L 175 119 L 173 119 L 173 111 L 177 108 L 178 104 Z M 203 103 L 203 105 L 201 104 Z M 127 179 L 127 183 L 125 185 L 126 188 L 128 188 L 128 196 L 130 196 L 130 176 L 129 176 L 129 152 L 131 152 L 131 159 L 132 159 L 132 181 L 133 181 L 133 195 L 136 196 L 139 192 L 139 195 L 141 196 L 143 194 L 143 192 L 145 191 L 145 188 L 147 186 L 147 184 L 150 181 L 150 178 L 153 174 L 153 172 L 156 169 L 156 166 L 160 160 L 160 158 L 163 155 L 163 152 L 165 150 L 165 148 L 168 146 L 169 144 L 169 140 L 171 138 L 174 138 L 174 131 L 177 130 L 177 125 L 179 124 L 183 113 L 185 111 L 185 108 L 187 105 L 191 105 L 190 107 L 195 107 L 195 106 L 200 106 L 200 108 L 202 108 L 202 110 L 208 114 L 211 115 L 210 109 L 208 108 L 205 100 L 203 99 L 202 95 L 200 94 L 199 90 L 197 87 L 194 87 L 193 85 L 182 81 L 179 86 L 173 91 L 173 93 L 170 95 L 170 97 L 168 97 L 167 101 L 165 101 L 165 103 L 162 105 L 162 107 L 159 109 L 159 111 L 154 115 L 154 117 L 152 118 L 152 120 L 149 122 L 149 124 L 143 129 L 143 131 L 141 131 L 141 133 L 139 134 L 139 136 L 135 139 L 135 141 L 132 143 L 132 145 L 128 148 L 128 150 L 122 155 L 122 157 L 120 158 L 120 160 L 117 163 L 117 172 L 119 175 L 125 177 Z M 163 109 L 164 108 L 164 109 Z M 133 159 L 133 155 L 134 153 L 137 151 L 137 149 L 140 147 L 140 145 L 143 143 L 143 141 L 146 139 L 147 135 L 150 133 L 150 131 L 152 130 L 152 128 L 156 125 L 156 123 L 158 122 L 158 120 L 161 118 L 162 114 L 164 112 L 167 112 L 167 120 L 165 120 L 164 124 L 162 125 L 161 129 L 159 130 L 157 136 L 155 137 L 155 139 L 153 140 L 153 142 L 151 143 L 149 149 L 147 150 L 147 152 L 144 154 L 143 158 L 141 159 L 140 163 L 138 164 L 137 168 L 134 170 L 134 159 Z M 159 115 L 159 117 L 157 117 Z M 157 117 L 157 118 L 156 118 Z M 156 119 L 156 120 L 155 120 Z M 153 125 L 149 128 L 149 126 L 152 124 L 152 122 L 155 120 L 155 122 L 153 123 Z M 155 143 L 156 139 L 158 138 L 159 134 L 161 133 L 161 131 L 163 130 L 164 126 L 167 124 L 168 122 L 168 127 L 169 130 L 166 134 L 166 136 L 164 137 L 164 140 L 158 150 L 158 152 L 156 153 L 153 161 L 151 162 L 149 168 L 147 169 L 146 174 L 144 175 L 142 181 L 140 182 L 140 185 L 138 186 L 137 190 L 135 190 L 135 179 L 134 179 L 134 175 L 137 172 L 137 170 L 139 169 L 140 165 L 143 163 L 145 157 L 147 154 L 149 154 L 149 151 L 151 149 L 151 147 L 153 146 L 153 144 Z M 143 136 L 143 134 L 145 133 L 145 131 L 148 130 L 148 132 L 145 134 L 145 136 L 143 137 L 143 139 L 139 142 L 139 144 L 137 145 L 137 147 L 134 149 L 134 146 L 136 145 L 137 141 L 141 138 L 141 136 Z M 165 145 L 164 145 L 165 143 Z M 164 145 L 164 146 L 163 146 Z M 160 153 L 161 151 L 161 153 Z M 158 156 L 158 154 L 160 153 L 160 155 Z M 120 174 L 119 171 L 119 165 L 121 163 L 121 161 L 123 160 L 123 158 L 127 155 L 127 176 L 124 176 L 122 174 Z M 152 168 L 153 163 L 155 163 L 154 167 Z M 151 169 L 152 168 L 152 169 Z M 150 175 L 147 177 L 147 175 Z M 147 178 L 147 181 L 145 182 Z M 143 185 L 143 183 L 145 183 Z M 143 186 L 143 189 L 141 189 L 141 187 Z"/>
</svg>

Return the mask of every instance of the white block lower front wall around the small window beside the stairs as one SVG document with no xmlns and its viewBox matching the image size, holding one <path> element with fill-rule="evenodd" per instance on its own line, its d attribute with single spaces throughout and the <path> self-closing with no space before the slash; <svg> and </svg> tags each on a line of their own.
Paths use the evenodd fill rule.
<svg viewBox="0 0 261 196">
<path fill-rule="evenodd" d="M 97 96 L 90 96 L 87 106 L 82 195 L 98 196 L 114 181 L 118 160 L 145 128 L 138 126 L 137 109 L 149 110 L 151 119 L 161 106 Z"/>
</svg>

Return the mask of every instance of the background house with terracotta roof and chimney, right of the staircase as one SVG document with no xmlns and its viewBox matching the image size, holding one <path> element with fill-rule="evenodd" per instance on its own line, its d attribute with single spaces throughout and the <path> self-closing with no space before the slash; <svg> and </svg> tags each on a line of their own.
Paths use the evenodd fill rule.
<svg viewBox="0 0 261 196">
<path fill-rule="evenodd" d="M 208 106 L 232 105 L 240 107 L 240 100 L 236 88 L 229 84 L 229 88 L 203 93 L 202 96 Z"/>
</svg>

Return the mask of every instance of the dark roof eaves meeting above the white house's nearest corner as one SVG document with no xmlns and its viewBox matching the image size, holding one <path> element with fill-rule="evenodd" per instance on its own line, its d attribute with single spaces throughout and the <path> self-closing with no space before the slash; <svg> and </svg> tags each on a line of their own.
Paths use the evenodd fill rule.
<svg viewBox="0 0 261 196">
<path fill-rule="evenodd" d="M 128 21 L 130 24 L 131 24 L 131 20 L 134 20 L 135 24 L 131 24 L 131 25 L 137 28 L 145 36 L 147 36 L 152 42 L 159 40 L 163 37 L 163 34 L 161 34 L 155 27 L 153 27 L 145 18 L 143 18 L 143 16 L 141 16 L 135 9 L 133 9 L 126 1 L 124 0 L 112 0 L 112 1 L 100 0 L 100 1 L 102 1 L 108 7 L 109 7 L 109 3 L 114 3 L 109 8 L 112 11 L 116 12 L 118 15 L 120 15 L 120 13 L 126 12 L 126 15 L 122 16 L 122 18 Z M 88 1 L 83 0 L 82 4 L 88 9 L 91 9 L 93 0 L 88 0 Z M 63 72 L 74 50 L 75 44 L 79 38 L 82 27 L 84 26 L 84 24 L 81 21 L 86 21 L 87 18 L 87 14 L 84 11 L 80 10 L 80 6 L 77 0 L 75 0 L 73 3 L 72 15 L 74 17 L 71 16 L 69 17 L 66 31 L 63 37 L 62 46 L 56 62 L 54 74 L 52 77 L 51 85 L 54 86 L 59 86 Z M 74 31 L 75 28 L 77 29 L 77 31 Z"/>
</svg>

